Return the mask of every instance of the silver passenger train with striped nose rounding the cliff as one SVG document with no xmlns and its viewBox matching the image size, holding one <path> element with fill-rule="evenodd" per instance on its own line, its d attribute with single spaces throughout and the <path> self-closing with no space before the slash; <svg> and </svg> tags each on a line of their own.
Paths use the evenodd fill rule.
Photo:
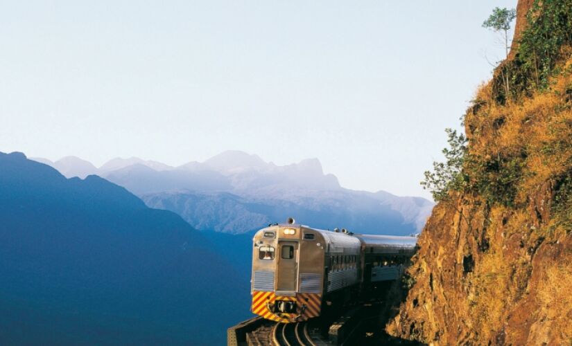
<svg viewBox="0 0 572 346">
<path fill-rule="evenodd" d="M 416 246 L 413 236 L 320 230 L 292 218 L 268 225 L 253 238 L 250 310 L 283 323 L 318 317 L 335 302 L 397 280 Z"/>
</svg>

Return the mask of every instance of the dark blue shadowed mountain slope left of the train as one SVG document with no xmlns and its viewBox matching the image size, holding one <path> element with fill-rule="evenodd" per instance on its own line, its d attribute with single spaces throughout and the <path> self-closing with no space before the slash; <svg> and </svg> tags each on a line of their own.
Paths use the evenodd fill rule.
<svg viewBox="0 0 572 346">
<path fill-rule="evenodd" d="M 250 316 L 250 241 L 235 238 L 0 153 L 1 343 L 220 345 Z"/>
</svg>

